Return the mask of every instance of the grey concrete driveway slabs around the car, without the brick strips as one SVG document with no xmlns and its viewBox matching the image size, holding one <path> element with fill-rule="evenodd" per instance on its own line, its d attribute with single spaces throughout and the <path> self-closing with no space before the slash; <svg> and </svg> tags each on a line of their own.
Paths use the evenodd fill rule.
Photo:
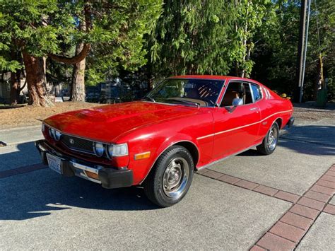
<svg viewBox="0 0 335 251">
<path fill-rule="evenodd" d="M 302 194 L 335 163 L 334 123 L 326 119 L 295 127 L 273 155 L 251 150 L 211 169 Z M 312 127 L 323 133 L 311 134 Z M 39 130 L 32 129 L 31 138 L 25 132 L 0 131 L 0 141 L 9 142 L 0 148 L 0 172 L 40 162 L 32 142 Z M 0 250 L 248 250 L 292 204 L 194 175 L 180 204 L 158 209 L 142 189 L 102 189 L 45 168 L 0 179 L 0 205 Z M 320 214 L 298 249 L 331 250 L 334 217 Z"/>
</svg>

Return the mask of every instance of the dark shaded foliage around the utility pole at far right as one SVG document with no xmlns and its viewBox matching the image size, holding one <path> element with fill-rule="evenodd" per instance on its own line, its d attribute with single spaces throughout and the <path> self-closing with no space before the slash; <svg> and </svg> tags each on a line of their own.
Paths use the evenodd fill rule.
<svg viewBox="0 0 335 251">
<path fill-rule="evenodd" d="M 292 95 L 296 85 L 300 1 L 274 1 L 272 8 L 276 10 L 276 16 L 273 18 L 273 25 L 266 28 L 266 37 L 262 37 L 255 47 L 252 57 L 257 68 L 252 71 L 252 76 L 280 92 Z M 320 47 L 317 37 L 317 16 Z M 312 0 L 305 69 L 305 98 L 307 100 L 312 99 L 314 95 L 319 49 L 321 49 L 324 62 L 324 76 L 329 78 L 329 89 L 333 83 L 332 79 L 335 78 L 334 17 L 334 1 L 318 0 L 316 8 L 315 1 Z"/>
</svg>

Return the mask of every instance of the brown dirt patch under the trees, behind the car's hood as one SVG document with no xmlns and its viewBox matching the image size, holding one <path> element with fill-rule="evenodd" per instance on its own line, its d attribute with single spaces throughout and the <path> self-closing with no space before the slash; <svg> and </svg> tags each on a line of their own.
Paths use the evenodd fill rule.
<svg viewBox="0 0 335 251">
<path fill-rule="evenodd" d="M 55 103 L 54 107 L 24 107 L 0 109 L 0 129 L 39 125 L 41 120 L 61 112 L 95 107 L 101 104 L 86 102 Z"/>
</svg>

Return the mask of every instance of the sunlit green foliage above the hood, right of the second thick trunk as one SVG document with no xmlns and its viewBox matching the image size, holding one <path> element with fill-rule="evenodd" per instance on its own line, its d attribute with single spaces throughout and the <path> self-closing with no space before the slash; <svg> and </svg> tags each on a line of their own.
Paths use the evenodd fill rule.
<svg viewBox="0 0 335 251">
<path fill-rule="evenodd" d="M 90 35 L 93 53 L 88 57 L 89 85 L 112 78 L 120 70 L 136 71 L 146 64 L 143 35 L 153 28 L 162 4 L 160 0 L 93 4 L 100 14 Z"/>
</svg>

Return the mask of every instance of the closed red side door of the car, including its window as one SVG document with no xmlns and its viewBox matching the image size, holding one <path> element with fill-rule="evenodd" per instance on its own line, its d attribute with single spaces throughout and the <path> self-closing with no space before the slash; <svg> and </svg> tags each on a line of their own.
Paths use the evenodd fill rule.
<svg viewBox="0 0 335 251">
<path fill-rule="evenodd" d="M 213 119 L 214 160 L 242 151 L 259 141 L 261 114 L 247 82 L 228 83 L 221 106 L 213 113 Z"/>
</svg>

